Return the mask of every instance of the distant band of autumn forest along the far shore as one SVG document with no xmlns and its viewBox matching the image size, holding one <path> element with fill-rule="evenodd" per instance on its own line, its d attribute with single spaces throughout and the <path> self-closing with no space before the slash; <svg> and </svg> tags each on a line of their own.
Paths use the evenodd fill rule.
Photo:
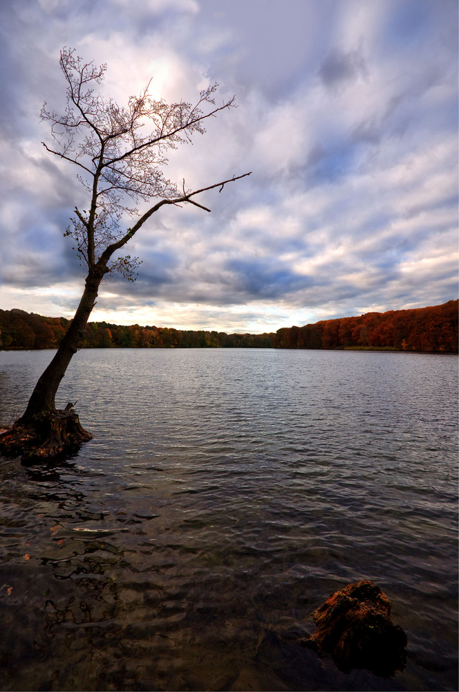
<svg viewBox="0 0 459 692">
<path fill-rule="evenodd" d="M 0 349 L 56 348 L 70 320 L 23 310 L 0 310 Z M 82 348 L 384 349 L 458 352 L 458 300 L 412 310 L 285 327 L 274 334 L 225 334 L 169 327 L 122 327 L 89 322 Z"/>
</svg>

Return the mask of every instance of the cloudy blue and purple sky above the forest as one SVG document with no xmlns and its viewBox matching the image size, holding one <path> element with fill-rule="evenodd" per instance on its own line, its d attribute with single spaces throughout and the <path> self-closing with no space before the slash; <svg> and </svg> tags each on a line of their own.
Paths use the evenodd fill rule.
<svg viewBox="0 0 459 692">
<path fill-rule="evenodd" d="M 64 237 L 84 189 L 48 154 L 59 51 L 106 63 L 120 104 L 237 108 L 171 152 L 212 211 L 165 206 L 127 246 L 91 320 L 262 333 L 458 297 L 456 0 L 1 0 L 0 308 L 71 318 Z"/>
</svg>

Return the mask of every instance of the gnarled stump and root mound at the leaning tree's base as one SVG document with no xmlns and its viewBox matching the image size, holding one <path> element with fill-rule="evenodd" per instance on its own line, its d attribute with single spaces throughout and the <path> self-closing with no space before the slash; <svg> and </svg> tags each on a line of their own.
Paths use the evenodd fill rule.
<svg viewBox="0 0 459 692">
<path fill-rule="evenodd" d="M 19 419 L 0 430 L 0 454 L 38 462 L 75 452 L 93 436 L 82 428 L 73 406 L 69 402 L 63 411 L 45 412 L 24 423 Z"/>
</svg>

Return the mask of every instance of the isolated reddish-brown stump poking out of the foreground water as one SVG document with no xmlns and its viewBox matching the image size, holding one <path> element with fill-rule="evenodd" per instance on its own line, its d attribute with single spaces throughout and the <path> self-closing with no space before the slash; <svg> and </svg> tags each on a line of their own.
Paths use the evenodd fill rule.
<svg viewBox="0 0 459 692">
<path fill-rule="evenodd" d="M 330 654 L 341 671 L 366 668 L 388 677 L 403 670 L 406 634 L 391 621 L 391 601 L 373 581 L 348 584 L 311 617 L 317 632 L 301 644 Z"/>
</svg>

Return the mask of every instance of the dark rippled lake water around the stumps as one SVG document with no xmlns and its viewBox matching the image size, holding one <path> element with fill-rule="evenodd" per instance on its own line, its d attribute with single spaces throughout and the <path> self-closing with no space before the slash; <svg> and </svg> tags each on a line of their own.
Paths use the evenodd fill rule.
<svg viewBox="0 0 459 692">
<path fill-rule="evenodd" d="M 0 352 L 0 421 L 53 352 Z M 0 464 L 2 690 L 457 690 L 458 358 L 82 350 L 94 439 Z M 297 639 L 373 579 L 404 671 Z"/>
</svg>

